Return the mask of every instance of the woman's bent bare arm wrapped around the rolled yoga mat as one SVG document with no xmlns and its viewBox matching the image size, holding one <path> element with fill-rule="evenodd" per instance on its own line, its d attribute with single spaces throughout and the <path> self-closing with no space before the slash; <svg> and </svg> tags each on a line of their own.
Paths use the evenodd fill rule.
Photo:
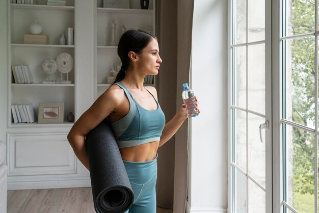
<svg viewBox="0 0 319 213">
<path fill-rule="evenodd" d="M 72 126 L 67 139 L 81 163 L 88 169 L 89 158 L 87 154 L 85 136 L 108 117 L 119 105 L 120 98 L 116 89 L 105 91 Z"/>
</svg>

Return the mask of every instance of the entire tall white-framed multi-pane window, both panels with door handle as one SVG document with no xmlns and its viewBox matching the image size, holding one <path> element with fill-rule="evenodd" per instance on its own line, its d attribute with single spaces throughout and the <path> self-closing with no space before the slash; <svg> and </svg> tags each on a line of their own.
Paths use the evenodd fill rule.
<svg viewBox="0 0 319 213">
<path fill-rule="evenodd" d="M 317 213 L 318 1 L 229 7 L 230 212 Z"/>
</svg>

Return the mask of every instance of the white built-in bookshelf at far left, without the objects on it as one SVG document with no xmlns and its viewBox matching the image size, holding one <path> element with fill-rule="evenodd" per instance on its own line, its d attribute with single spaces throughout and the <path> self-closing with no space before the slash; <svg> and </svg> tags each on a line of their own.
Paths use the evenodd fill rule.
<svg viewBox="0 0 319 213">
<path fill-rule="evenodd" d="M 67 28 L 74 29 L 74 0 L 67 1 L 67 6 L 47 6 L 46 1 L 38 0 L 37 5 L 27 4 L 10 4 L 8 11 L 10 16 L 9 26 L 9 62 L 8 82 L 9 87 L 9 105 L 32 103 L 38 117 L 38 105 L 40 102 L 64 102 L 64 120 L 69 112 L 74 113 L 74 74 L 73 68 L 69 72 L 69 79 L 72 84 L 42 84 L 46 77 L 41 70 L 41 62 L 45 58 L 56 59 L 62 52 L 70 54 L 75 61 L 74 45 L 59 45 L 59 35 L 64 34 Z M 29 26 L 37 20 L 43 27 L 42 34 L 49 38 L 48 44 L 24 44 L 23 35 L 30 34 Z M 54 21 L 52 21 L 54 20 Z M 34 83 L 32 84 L 15 84 L 11 65 L 29 65 Z M 57 70 L 51 79 L 61 80 L 61 73 Z M 8 115 L 9 127 L 25 127 L 31 123 L 13 123 L 11 114 Z M 48 124 L 33 123 L 32 126 L 48 126 Z M 56 126 L 58 124 L 55 124 Z M 62 124 L 65 126 L 65 124 Z M 69 123 L 71 126 L 72 123 Z"/>
</svg>

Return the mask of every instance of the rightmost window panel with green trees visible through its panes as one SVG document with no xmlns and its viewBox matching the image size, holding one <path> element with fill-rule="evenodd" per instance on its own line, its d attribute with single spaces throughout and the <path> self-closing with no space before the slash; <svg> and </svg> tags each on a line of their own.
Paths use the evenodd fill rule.
<svg viewBox="0 0 319 213">
<path fill-rule="evenodd" d="M 283 212 L 318 209 L 317 7 L 314 0 L 281 0 L 277 20 Z"/>
</svg>

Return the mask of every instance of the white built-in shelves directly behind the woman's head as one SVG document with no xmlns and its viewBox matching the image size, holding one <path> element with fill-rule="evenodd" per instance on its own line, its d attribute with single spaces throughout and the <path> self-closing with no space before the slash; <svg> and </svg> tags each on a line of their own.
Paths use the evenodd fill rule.
<svg viewBox="0 0 319 213">
<path fill-rule="evenodd" d="M 97 96 L 101 95 L 111 84 L 107 84 L 107 77 L 112 76 L 110 70 L 115 64 L 121 65 L 117 55 L 117 46 L 110 46 L 111 26 L 113 19 L 116 25 L 116 42 L 122 35 L 124 25 L 126 30 L 143 29 L 155 34 L 155 3 L 149 1 L 148 10 L 140 9 L 140 1 L 130 1 L 130 8 L 103 8 L 103 2 L 97 0 L 96 9 L 96 41 L 97 41 Z M 154 79 L 155 82 L 155 79 Z M 155 84 L 151 84 L 155 86 Z"/>
</svg>

